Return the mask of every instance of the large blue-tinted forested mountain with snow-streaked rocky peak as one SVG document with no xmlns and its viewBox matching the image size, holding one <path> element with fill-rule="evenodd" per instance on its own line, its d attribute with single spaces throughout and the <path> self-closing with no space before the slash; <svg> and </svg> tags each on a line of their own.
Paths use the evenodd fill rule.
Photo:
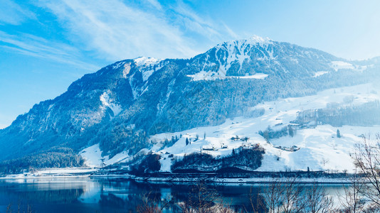
<svg viewBox="0 0 380 213">
<path fill-rule="evenodd" d="M 122 60 L 0 130 L 1 165 L 80 166 L 78 153 L 95 145 L 108 159 L 133 156 L 152 148 L 151 136 L 159 133 L 218 126 L 254 115 L 251 109 L 264 102 L 374 81 L 378 61 L 348 61 L 258 36 L 190 59 Z"/>
</svg>

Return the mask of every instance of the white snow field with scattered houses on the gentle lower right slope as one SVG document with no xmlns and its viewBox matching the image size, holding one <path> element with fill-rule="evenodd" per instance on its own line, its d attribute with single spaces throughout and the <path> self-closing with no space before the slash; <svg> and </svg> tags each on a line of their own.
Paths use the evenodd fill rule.
<svg viewBox="0 0 380 213">
<path fill-rule="evenodd" d="M 376 91 L 377 94 L 374 92 Z M 265 148 L 263 165 L 259 171 L 283 171 L 283 170 L 334 170 L 352 172 L 354 165 L 350 154 L 354 152 L 354 146 L 362 141 L 361 134 L 380 132 L 380 126 L 342 126 L 333 127 L 330 125 L 319 125 L 315 129 L 298 129 L 294 137 L 285 136 L 283 138 L 271 139 L 267 143 L 258 131 L 264 131 L 267 126 L 273 129 L 281 129 L 297 116 L 297 111 L 307 109 L 319 109 L 327 107 L 327 104 L 337 102 L 340 106 L 347 105 L 345 97 L 354 97 L 349 105 L 364 104 L 380 99 L 380 89 L 372 84 L 361 84 L 353 87 L 342 87 L 338 89 L 327 89 L 315 95 L 307 97 L 278 99 L 275 102 L 264 102 L 258 104 L 250 110 L 265 109 L 263 116 L 249 118 L 241 116 L 233 120 L 227 119 L 224 124 L 218 126 L 205 126 L 175 133 L 160 133 L 151 136 L 154 146 L 151 149 L 162 155 L 161 171 L 169 171 L 173 154 L 181 158 L 185 154 L 201 151 L 205 147 L 213 147 L 214 151 L 202 151 L 214 156 L 228 155 L 232 148 L 255 143 Z M 277 125 L 277 126 L 276 126 Z M 336 137 L 337 129 L 342 133 L 342 138 Z M 206 138 L 204 138 L 206 133 Z M 181 138 L 179 136 L 182 135 Z M 196 135 L 199 139 L 196 141 Z M 231 137 L 250 138 L 248 143 L 241 140 L 233 141 Z M 162 147 L 162 141 L 171 136 L 177 136 L 179 141 L 170 147 Z M 186 146 L 186 138 L 191 143 Z M 222 148 L 227 146 L 226 148 Z M 280 148 L 290 148 L 297 146 L 298 151 L 286 151 Z M 169 153 L 169 154 L 167 154 Z M 277 160 L 278 159 L 278 160 Z"/>
</svg>

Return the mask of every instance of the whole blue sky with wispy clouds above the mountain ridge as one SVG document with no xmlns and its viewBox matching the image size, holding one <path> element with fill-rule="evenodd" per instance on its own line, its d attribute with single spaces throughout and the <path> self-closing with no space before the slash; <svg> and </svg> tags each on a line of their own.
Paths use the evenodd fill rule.
<svg viewBox="0 0 380 213">
<path fill-rule="evenodd" d="M 349 60 L 380 56 L 380 1 L 0 0 L 0 129 L 86 73 L 191 58 L 252 35 Z"/>
</svg>

